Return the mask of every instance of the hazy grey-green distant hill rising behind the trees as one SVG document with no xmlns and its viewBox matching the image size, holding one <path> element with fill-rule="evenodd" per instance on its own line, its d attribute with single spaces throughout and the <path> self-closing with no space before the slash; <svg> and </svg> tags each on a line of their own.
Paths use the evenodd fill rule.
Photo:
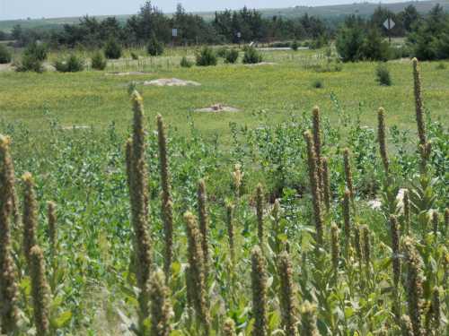
<svg viewBox="0 0 449 336">
<path fill-rule="evenodd" d="M 390 9 L 392 12 L 401 12 L 406 6 L 413 4 L 419 13 L 428 13 L 432 7 L 436 4 L 441 4 L 446 11 L 449 11 L 449 1 L 447 0 L 427 0 L 427 1 L 409 1 L 406 3 L 395 4 L 382 4 L 383 7 Z M 324 19 L 339 19 L 350 14 L 358 14 L 360 16 L 370 16 L 374 13 L 374 10 L 379 6 L 378 3 L 365 2 L 357 4 L 335 4 L 327 6 L 295 6 L 290 8 L 272 8 L 272 9 L 259 9 L 259 11 L 265 17 L 273 17 L 275 15 L 285 18 L 295 18 L 308 13 L 309 15 L 320 16 Z M 198 13 L 206 20 L 212 20 L 214 18 L 213 12 Z M 120 22 L 125 22 L 131 15 L 115 15 Z M 107 16 L 97 16 L 98 19 L 105 18 Z M 58 28 L 66 23 L 79 22 L 79 17 L 71 18 L 55 18 L 55 19 L 31 19 L 31 20 L 10 20 L 0 21 L 0 30 L 10 31 L 13 26 L 20 24 L 22 28 L 34 28 L 41 30 L 48 30 Z"/>
</svg>

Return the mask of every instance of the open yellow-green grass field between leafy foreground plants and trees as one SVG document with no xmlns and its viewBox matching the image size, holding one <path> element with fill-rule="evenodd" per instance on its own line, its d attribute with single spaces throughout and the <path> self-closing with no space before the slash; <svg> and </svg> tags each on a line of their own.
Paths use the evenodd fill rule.
<svg viewBox="0 0 449 336">
<path fill-rule="evenodd" d="M 109 65 L 106 72 L 13 73 L 0 72 L 0 120 L 21 122 L 31 131 L 48 128 L 49 117 L 65 126 L 105 127 L 115 122 L 124 130 L 129 125 L 128 84 L 158 78 L 180 78 L 201 83 L 200 87 L 148 87 L 138 85 L 149 116 L 162 114 L 180 132 L 186 129 L 191 114 L 207 135 L 227 139 L 229 123 L 257 126 L 258 112 L 264 111 L 272 122 L 291 114 L 310 111 L 319 105 L 325 116 L 337 120 L 343 110 L 348 116 L 360 113 L 365 125 L 375 124 L 375 111 L 386 108 L 392 123 L 414 129 L 412 73 L 409 61 L 390 63 L 392 87 L 375 81 L 374 63 L 343 65 L 341 72 L 317 73 L 305 65 L 320 63 L 321 54 L 313 51 L 268 52 L 265 60 L 276 65 L 218 65 L 180 68 L 179 50 L 171 56 L 153 60 L 124 60 Z M 111 71 L 149 72 L 145 75 L 112 76 Z M 438 70 L 436 63 L 423 63 L 426 108 L 434 117 L 444 118 L 449 106 L 449 70 Z M 321 81 L 322 89 L 313 88 Z M 333 97 L 331 99 L 331 97 Z M 222 103 L 241 109 L 238 113 L 199 114 L 196 108 Z"/>
</svg>

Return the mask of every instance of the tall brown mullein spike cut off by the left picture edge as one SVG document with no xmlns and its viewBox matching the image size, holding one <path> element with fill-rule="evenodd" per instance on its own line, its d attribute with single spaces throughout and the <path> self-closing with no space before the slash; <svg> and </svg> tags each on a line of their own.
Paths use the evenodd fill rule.
<svg viewBox="0 0 449 336">
<path fill-rule="evenodd" d="M 14 169 L 9 144 L 9 138 L 0 134 L 0 333 L 13 335 L 19 309 L 11 244 Z"/>
</svg>

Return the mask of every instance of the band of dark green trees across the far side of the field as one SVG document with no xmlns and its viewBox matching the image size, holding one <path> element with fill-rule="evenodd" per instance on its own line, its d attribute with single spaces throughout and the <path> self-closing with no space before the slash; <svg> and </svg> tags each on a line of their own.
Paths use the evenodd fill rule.
<svg viewBox="0 0 449 336">
<path fill-rule="evenodd" d="M 383 26 L 389 18 L 395 23 L 392 30 Z M 178 34 L 173 38 L 174 28 Z M 0 39 L 13 39 L 16 47 L 40 40 L 54 48 L 100 48 L 113 42 L 124 47 L 147 46 L 154 49 L 158 44 L 170 43 L 212 45 L 298 40 L 312 40 L 309 45 L 322 47 L 330 39 L 335 39 L 344 61 L 384 60 L 399 56 L 449 58 L 449 15 L 439 4 L 426 15 L 418 13 L 410 4 L 400 13 L 379 6 L 369 18 L 350 15 L 334 20 L 323 20 L 307 13 L 294 19 L 264 17 L 257 10 L 243 7 L 239 11 L 216 12 L 214 19 L 207 21 L 198 14 L 186 13 L 181 4 L 178 4 L 176 13 L 166 15 L 147 1 L 136 15 L 126 21 L 119 21 L 116 17 L 98 20 L 85 16 L 79 23 L 65 24 L 60 29 L 25 30 L 17 25 L 10 35 L 0 31 Z M 408 43 L 394 50 L 385 41 L 387 35 L 407 37 Z"/>
</svg>

